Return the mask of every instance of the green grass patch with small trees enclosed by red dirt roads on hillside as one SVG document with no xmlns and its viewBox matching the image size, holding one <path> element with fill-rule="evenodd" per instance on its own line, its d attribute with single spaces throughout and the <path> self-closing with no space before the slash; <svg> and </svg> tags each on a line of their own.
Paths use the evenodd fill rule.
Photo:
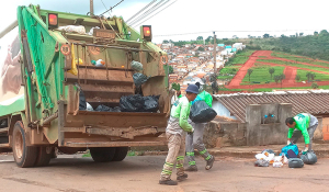
<svg viewBox="0 0 329 192">
<path fill-rule="evenodd" d="M 274 74 L 269 72 L 270 68 L 274 68 Z M 265 82 L 275 82 L 274 76 L 283 74 L 284 67 L 272 67 L 272 66 L 257 66 L 251 68 L 253 71 L 250 75 L 250 81 L 248 74 L 245 76 L 241 84 L 250 84 L 251 82 L 259 82 L 258 84 L 264 84 Z M 254 83 L 252 83 L 254 84 Z"/>
</svg>

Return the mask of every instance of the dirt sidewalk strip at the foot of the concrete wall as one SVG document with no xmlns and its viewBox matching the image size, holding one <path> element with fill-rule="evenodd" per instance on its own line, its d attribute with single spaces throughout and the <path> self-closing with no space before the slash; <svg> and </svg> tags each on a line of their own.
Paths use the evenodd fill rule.
<svg viewBox="0 0 329 192">
<path fill-rule="evenodd" d="M 304 149 L 304 144 L 297 144 L 298 149 Z M 268 146 L 238 146 L 238 147 L 222 147 L 211 148 L 209 154 L 217 157 L 237 157 L 237 158 L 254 158 L 254 155 L 262 153 L 264 149 L 272 149 L 276 155 L 281 153 L 284 145 L 268 145 Z M 313 144 L 313 150 L 317 157 L 329 157 L 329 144 Z"/>
</svg>

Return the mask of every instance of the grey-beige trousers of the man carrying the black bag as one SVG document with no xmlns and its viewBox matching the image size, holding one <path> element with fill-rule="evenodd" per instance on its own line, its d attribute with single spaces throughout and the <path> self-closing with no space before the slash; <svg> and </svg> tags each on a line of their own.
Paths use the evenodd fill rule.
<svg viewBox="0 0 329 192">
<path fill-rule="evenodd" d="M 198 154 L 205 159 L 209 160 L 212 156 L 205 148 L 203 144 L 203 132 L 205 127 L 205 123 L 193 123 L 192 121 L 189 122 L 193 128 L 193 134 L 186 135 L 186 158 L 189 160 L 190 166 L 195 165 L 195 158 L 194 158 L 194 149 L 197 149 Z"/>
</svg>

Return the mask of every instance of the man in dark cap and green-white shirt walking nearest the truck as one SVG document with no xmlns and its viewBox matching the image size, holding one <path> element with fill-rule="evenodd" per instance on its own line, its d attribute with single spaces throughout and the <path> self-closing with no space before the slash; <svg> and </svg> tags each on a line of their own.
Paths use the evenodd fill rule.
<svg viewBox="0 0 329 192">
<path fill-rule="evenodd" d="M 193 133 L 193 127 L 188 123 L 191 101 L 193 101 L 198 89 L 195 84 L 190 84 L 185 90 L 186 95 L 173 103 L 170 118 L 166 128 L 168 140 L 168 155 L 160 176 L 160 184 L 177 185 L 177 181 L 170 179 L 174 162 L 177 168 L 177 180 L 182 181 L 188 178 L 184 173 L 185 132 Z"/>
</svg>

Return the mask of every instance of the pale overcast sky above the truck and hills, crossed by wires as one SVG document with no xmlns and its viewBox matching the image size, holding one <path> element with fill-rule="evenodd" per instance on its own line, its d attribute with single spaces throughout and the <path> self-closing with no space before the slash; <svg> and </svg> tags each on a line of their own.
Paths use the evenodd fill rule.
<svg viewBox="0 0 329 192">
<path fill-rule="evenodd" d="M 80 14 L 89 12 L 89 0 L 2 1 L 5 1 L 5 3 L 2 2 L 0 8 L 0 31 L 15 20 L 18 5 L 33 3 L 47 10 Z M 107 8 L 120 1 L 103 0 Z M 166 1 L 163 0 L 163 2 Z M 174 1 L 170 0 L 150 15 Z M 111 14 L 122 15 L 124 20 L 128 20 L 149 2 L 151 0 L 124 0 Z M 102 1 L 94 0 L 95 14 L 103 11 L 105 11 L 105 8 Z M 314 31 L 329 29 L 327 15 L 327 0 L 177 0 L 166 10 L 141 24 L 152 25 L 154 42 L 159 43 L 162 39 L 195 39 L 197 36 L 206 38 L 213 35 L 212 31 L 217 31 L 216 34 L 219 38 L 231 37 L 232 35 L 239 37 L 260 36 L 264 33 L 276 36 L 281 34 L 291 35 L 296 32 L 313 34 Z M 136 30 L 139 31 L 139 27 L 136 27 Z"/>
</svg>

